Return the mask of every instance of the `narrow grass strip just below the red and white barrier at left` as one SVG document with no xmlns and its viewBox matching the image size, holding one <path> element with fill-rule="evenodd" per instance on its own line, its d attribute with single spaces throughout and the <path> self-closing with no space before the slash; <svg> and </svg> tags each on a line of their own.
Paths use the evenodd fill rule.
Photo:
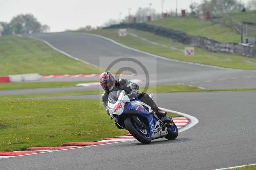
<svg viewBox="0 0 256 170">
<path fill-rule="evenodd" d="M 0 83 L 0 90 L 73 87 L 73 86 L 76 86 L 76 84 L 79 84 L 79 83 L 89 83 L 89 82 L 98 82 L 98 81 L 58 81 L 58 82 Z"/>
</svg>

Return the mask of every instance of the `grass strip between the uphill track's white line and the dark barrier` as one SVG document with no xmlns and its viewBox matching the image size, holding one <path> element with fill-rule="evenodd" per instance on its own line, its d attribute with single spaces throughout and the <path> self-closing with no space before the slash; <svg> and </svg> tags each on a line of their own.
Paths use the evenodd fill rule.
<svg viewBox="0 0 256 170">
<path fill-rule="evenodd" d="M 195 48 L 194 56 L 184 56 L 184 52 L 173 50 L 169 47 L 176 47 L 179 49 L 184 49 L 185 45 L 182 43 L 177 43 L 172 41 L 170 38 L 165 38 L 161 36 L 154 35 L 152 33 L 128 29 L 128 33 L 133 33 L 140 35 L 141 37 L 147 38 L 150 41 L 156 43 L 165 44 L 169 47 L 163 47 L 159 45 L 153 45 L 149 42 L 145 42 L 140 37 L 134 37 L 132 35 L 127 35 L 125 37 L 118 36 L 117 29 L 102 29 L 90 31 L 92 34 L 102 35 L 115 40 L 118 43 L 122 43 L 126 46 L 146 51 L 152 54 L 163 56 L 166 58 L 172 58 L 182 61 L 189 61 L 194 63 L 201 63 L 212 66 L 220 66 L 226 68 L 235 69 L 248 69 L 255 70 L 256 64 L 248 63 L 244 60 L 252 61 L 256 63 L 256 58 L 246 58 L 241 56 L 229 55 L 224 53 L 213 53 L 204 49 Z"/>
</svg>

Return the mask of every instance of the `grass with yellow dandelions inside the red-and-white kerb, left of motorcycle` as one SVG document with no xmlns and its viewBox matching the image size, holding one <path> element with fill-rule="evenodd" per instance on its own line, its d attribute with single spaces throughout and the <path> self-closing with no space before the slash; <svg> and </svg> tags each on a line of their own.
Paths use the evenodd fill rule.
<svg viewBox="0 0 256 170">
<path fill-rule="evenodd" d="M 121 136 L 99 100 L 0 100 L 0 151 Z"/>
</svg>

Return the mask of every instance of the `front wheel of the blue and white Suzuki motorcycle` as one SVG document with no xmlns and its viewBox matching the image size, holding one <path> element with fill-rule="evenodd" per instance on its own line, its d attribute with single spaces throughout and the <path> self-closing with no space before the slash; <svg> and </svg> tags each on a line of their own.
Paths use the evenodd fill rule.
<svg viewBox="0 0 256 170">
<path fill-rule="evenodd" d="M 139 128 L 131 117 L 124 120 L 124 125 L 126 129 L 133 135 L 133 137 L 135 137 L 141 143 L 148 144 L 151 142 L 151 135 L 148 132 L 148 129 Z"/>
</svg>

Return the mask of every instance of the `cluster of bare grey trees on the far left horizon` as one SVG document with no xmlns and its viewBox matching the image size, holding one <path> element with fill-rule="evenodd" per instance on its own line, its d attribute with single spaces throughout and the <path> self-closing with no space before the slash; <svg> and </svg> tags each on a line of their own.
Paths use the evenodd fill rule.
<svg viewBox="0 0 256 170">
<path fill-rule="evenodd" d="M 31 34 L 38 32 L 48 32 L 50 27 L 42 25 L 32 14 L 20 14 L 8 22 L 0 22 L 1 35 L 11 34 Z"/>
</svg>

